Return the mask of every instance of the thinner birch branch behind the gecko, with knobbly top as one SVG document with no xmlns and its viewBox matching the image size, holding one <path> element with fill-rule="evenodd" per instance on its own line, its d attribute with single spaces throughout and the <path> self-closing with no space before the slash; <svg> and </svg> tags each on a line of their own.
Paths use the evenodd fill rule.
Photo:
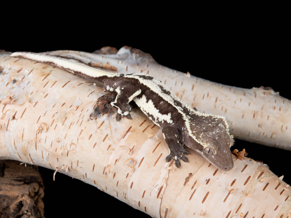
<svg viewBox="0 0 291 218">
<path fill-rule="evenodd" d="M 111 54 L 106 54 L 108 52 Z M 271 88 L 245 89 L 207 81 L 159 65 L 149 54 L 130 47 L 112 54 L 114 52 L 114 49 L 104 48 L 97 51 L 98 54 L 80 51 L 49 54 L 76 58 L 120 73 L 146 72 L 198 111 L 225 116 L 235 138 L 291 149 L 291 101 Z"/>
</svg>

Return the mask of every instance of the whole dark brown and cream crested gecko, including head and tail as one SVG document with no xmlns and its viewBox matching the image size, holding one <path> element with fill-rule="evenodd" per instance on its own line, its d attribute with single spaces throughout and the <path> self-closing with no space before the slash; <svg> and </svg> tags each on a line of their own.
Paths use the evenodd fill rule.
<svg viewBox="0 0 291 218">
<path fill-rule="evenodd" d="M 56 56 L 15 52 L 11 57 L 26 58 L 64 69 L 84 78 L 103 83 L 108 92 L 116 92 L 116 119 L 124 115 L 131 119 L 129 106 L 134 101 L 143 113 L 162 129 L 169 149 L 166 161 L 175 159 L 180 167 L 180 160 L 188 162 L 184 155 L 189 154 L 184 146 L 196 151 L 216 167 L 229 171 L 233 168 L 230 146 L 233 136 L 229 134 L 224 117 L 198 112 L 184 104 L 161 81 L 142 73 L 113 74 L 80 64 L 76 61 Z"/>
</svg>

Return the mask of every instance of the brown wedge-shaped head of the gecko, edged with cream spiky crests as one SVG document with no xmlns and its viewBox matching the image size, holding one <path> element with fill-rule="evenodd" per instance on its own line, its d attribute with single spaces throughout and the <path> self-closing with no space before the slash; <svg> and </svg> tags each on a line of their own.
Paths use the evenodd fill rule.
<svg viewBox="0 0 291 218">
<path fill-rule="evenodd" d="M 228 124 L 224 117 L 195 115 L 189 119 L 187 129 L 188 137 L 192 142 L 187 143 L 189 148 L 219 169 L 229 171 L 233 168 L 233 158 L 230 151 L 230 146 L 233 145 L 233 136 L 229 134 Z"/>
</svg>

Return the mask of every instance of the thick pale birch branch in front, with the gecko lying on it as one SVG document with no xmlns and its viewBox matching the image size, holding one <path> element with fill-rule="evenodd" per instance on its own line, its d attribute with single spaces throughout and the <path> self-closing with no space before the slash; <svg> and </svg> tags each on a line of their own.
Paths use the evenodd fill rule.
<svg viewBox="0 0 291 218">
<path fill-rule="evenodd" d="M 234 168 L 224 172 L 190 151 L 177 169 L 165 162 L 161 131 L 140 110 L 121 122 L 90 119 L 102 86 L 9 53 L 0 63 L 0 160 L 78 178 L 152 217 L 290 215 L 289 185 L 262 163 L 233 155 Z"/>
</svg>

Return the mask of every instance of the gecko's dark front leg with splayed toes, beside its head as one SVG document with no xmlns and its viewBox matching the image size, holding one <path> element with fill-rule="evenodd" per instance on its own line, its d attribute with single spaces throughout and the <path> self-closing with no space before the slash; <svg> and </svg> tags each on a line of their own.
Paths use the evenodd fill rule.
<svg viewBox="0 0 291 218">
<path fill-rule="evenodd" d="M 166 140 L 169 149 L 169 155 L 166 157 L 166 161 L 169 162 L 173 158 L 175 159 L 176 167 L 180 168 L 180 160 L 189 162 L 188 158 L 184 154 L 190 154 L 187 149 L 184 149 L 184 145 L 180 143 L 180 133 L 175 127 L 164 127 L 162 128 L 163 136 Z"/>
</svg>

